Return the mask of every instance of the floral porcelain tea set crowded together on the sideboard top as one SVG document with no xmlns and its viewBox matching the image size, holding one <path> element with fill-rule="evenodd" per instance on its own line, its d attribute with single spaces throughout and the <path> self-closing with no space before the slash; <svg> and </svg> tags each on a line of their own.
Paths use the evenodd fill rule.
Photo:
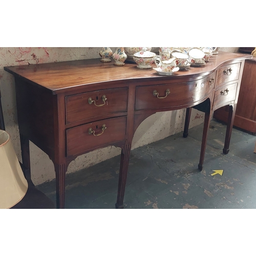
<svg viewBox="0 0 256 256">
<path fill-rule="evenodd" d="M 101 61 L 111 61 L 109 49 L 102 48 Z M 160 75 L 173 75 L 174 72 L 187 69 L 190 66 L 201 67 L 209 61 L 213 54 L 218 54 L 218 47 L 160 47 L 159 55 L 151 52 L 152 47 L 121 47 L 119 49 L 125 58 L 119 64 L 120 57 L 115 58 L 114 55 L 117 53 L 113 54 L 114 65 L 123 66 L 126 59 L 136 62 L 139 69 L 152 69 L 151 65 L 155 62 L 157 68 L 153 69 Z"/>
</svg>

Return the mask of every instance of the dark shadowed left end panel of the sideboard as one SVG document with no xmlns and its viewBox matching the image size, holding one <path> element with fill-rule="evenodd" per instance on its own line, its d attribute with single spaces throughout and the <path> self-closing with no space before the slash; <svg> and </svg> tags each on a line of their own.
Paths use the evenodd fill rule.
<svg viewBox="0 0 256 256">
<path fill-rule="evenodd" d="M 53 158 L 57 95 L 18 78 L 15 79 L 15 88 L 19 132 Z"/>
</svg>

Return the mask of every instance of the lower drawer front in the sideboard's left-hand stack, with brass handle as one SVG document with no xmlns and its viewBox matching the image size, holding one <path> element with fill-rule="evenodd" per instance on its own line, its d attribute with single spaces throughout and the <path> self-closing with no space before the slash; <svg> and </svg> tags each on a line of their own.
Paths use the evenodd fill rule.
<svg viewBox="0 0 256 256">
<path fill-rule="evenodd" d="M 124 141 L 126 117 L 103 119 L 67 130 L 67 156 L 74 156 L 114 142 Z"/>
</svg>

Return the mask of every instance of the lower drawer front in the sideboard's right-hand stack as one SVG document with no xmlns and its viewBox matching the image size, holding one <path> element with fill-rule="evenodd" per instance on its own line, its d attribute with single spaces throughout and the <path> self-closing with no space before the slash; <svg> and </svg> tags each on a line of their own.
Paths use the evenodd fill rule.
<svg viewBox="0 0 256 256">
<path fill-rule="evenodd" d="M 216 90 L 213 109 L 219 109 L 236 99 L 238 83 L 232 83 Z"/>
</svg>

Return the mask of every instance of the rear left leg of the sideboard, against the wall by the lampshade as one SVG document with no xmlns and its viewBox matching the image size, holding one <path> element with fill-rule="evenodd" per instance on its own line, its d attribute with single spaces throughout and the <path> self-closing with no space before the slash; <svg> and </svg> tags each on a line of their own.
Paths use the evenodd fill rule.
<svg viewBox="0 0 256 256">
<path fill-rule="evenodd" d="M 24 166 L 24 176 L 27 181 L 31 181 L 29 139 L 22 134 L 19 134 L 19 138 L 20 148 L 22 150 L 22 164 Z"/>
</svg>

